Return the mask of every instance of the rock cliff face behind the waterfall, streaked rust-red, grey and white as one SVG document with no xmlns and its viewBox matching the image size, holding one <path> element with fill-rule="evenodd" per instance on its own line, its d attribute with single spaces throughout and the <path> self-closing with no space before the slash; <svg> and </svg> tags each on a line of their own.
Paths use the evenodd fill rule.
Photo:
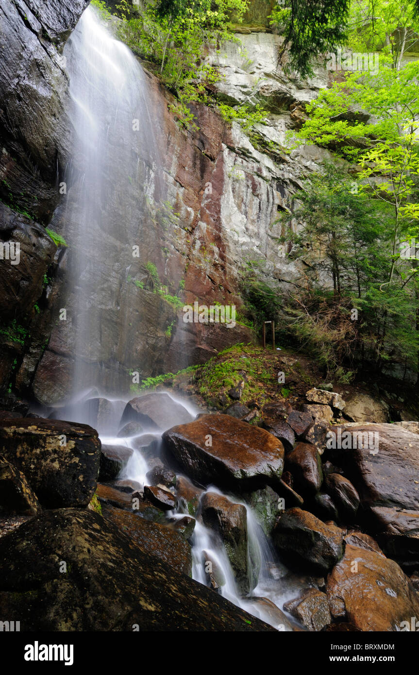
<svg viewBox="0 0 419 675">
<path fill-rule="evenodd" d="M 0 196 L 14 210 L 50 223 L 66 239 L 74 227 L 67 217 L 72 190 L 59 201 L 58 186 L 72 157 L 72 126 L 67 117 L 67 48 L 64 56 L 61 50 L 86 4 L 80 0 L 70 9 L 69 3 L 50 1 L 36 16 L 35 10 L 25 14 L 19 2 L 1 10 L 5 29 L 0 39 L 9 56 L 0 73 Z M 252 140 L 238 124 L 230 128 L 215 109 L 205 106 L 194 110 L 199 130 L 181 130 L 168 109 L 171 94 L 145 70 L 161 169 L 150 164 L 145 147 L 134 180 L 123 167 L 105 167 L 115 195 L 115 230 L 97 233 L 103 241 L 101 257 L 87 236 L 85 250 L 77 251 L 94 270 L 90 304 L 101 334 L 84 353 L 75 353 L 76 298 L 65 293 L 75 251 L 59 248 L 53 261 L 51 242 L 49 257 L 36 267 L 37 278 L 40 273 L 45 279 L 42 311 L 34 313 L 29 304 L 36 298 L 31 297 L 24 311 L 30 339 L 25 337 L 23 346 L 13 344 L 2 368 L 3 391 L 10 382 L 17 394 L 34 396 L 43 404 L 57 402 L 69 394 L 76 357 L 85 365 L 86 386 L 100 380 L 108 389 L 126 391 L 132 383 L 130 370 L 142 377 L 175 372 L 207 360 L 223 346 L 252 339 L 240 324 L 227 328 L 184 323 L 181 310 L 151 292 L 150 286 L 146 290 L 130 283 L 129 279 L 146 279 L 148 262 L 157 266 L 168 294 L 179 294 L 185 304 L 198 300 L 239 307 L 246 259 L 262 261 L 268 274 L 284 284 L 298 283 L 311 261 L 281 258 L 277 238 L 282 232 L 276 221 L 279 212 L 291 209 L 304 175 L 327 153 L 314 146 L 286 153 L 282 147 L 287 129 L 301 124 L 304 102 L 328 80 L 324 71 L 298 86 L 287 80 L 276 66 L 279 38 L 264 31 L 249 28 L 219 55 L 208 55 L 221 74 L 217 97 L 232 104 L 261 103 L 269 111 L 267 124 L 257 126 Z M 75 165 L 77 161 L 75 157 Z M 123 236 L 116 234 L 121 232 L 117 223 L 123 223 Z M 132 258 L 136 243 L 139 259 Z M 0 264 L 7 267 L 9 261 Z M 58 320 L 63 307 L 67 321 Z M 22 314 L 21 305 L 19 311 Z"/>
</svg>

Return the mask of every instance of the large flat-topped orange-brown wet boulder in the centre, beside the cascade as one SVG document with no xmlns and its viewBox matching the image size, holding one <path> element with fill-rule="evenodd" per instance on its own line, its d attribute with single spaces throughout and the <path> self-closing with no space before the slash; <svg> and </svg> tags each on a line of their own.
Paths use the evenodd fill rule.
<svg viewBox="0 0 419 675">
<path fill-rule="evenodd" d="M 234 417 L 207 414 L 163 434 L 177 462 L 198 483 L 234 489 L 276 485 L 283 470 L 281 441 Z"/>
</svg>

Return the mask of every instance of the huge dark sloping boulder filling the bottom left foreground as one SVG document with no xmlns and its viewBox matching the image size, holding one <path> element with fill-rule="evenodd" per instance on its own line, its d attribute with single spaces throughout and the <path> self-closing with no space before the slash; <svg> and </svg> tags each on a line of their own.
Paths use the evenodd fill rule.
<svg viewBox="0 0 419 675">
<path fill-rule="evenodd" d="M 0 605 L 20 630 L 273 630 L 80 509 L 1 537 Z"/>
</svg>

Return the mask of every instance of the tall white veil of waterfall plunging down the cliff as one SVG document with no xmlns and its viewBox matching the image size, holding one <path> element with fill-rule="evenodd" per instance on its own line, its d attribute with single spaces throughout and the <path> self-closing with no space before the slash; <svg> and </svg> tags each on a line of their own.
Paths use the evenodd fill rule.
<svg viewBox="0 0 419 675">
<path fill-rule="evenodd" d="M 144 204 L 160 190 L 160 162 L 144 72 L 91 7 L 64 56 L 74 148 L 62 215 L 70 279 L 66 339 L 75 354 L 72 395 L 80 399 L 68 412 L 82 421 L 88 389 L 119 395 L 130 386 L 128 373 L 119 369 L 132 350 L 136 309 L 127 270 L 135 279 L 133 246 L 141 248 Z M 115 326 L 121 327 L 117 335 Z"/>
</svg>

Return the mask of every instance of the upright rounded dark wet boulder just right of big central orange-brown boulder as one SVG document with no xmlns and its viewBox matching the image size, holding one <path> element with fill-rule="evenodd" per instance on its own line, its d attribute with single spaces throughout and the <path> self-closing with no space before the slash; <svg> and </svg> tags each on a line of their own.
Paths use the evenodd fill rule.
<svg viewBox="0 0 419 675">
<path fill-rule="evenodd" d="M 296 489 L 315 494 L 323 483 L 320 455 L 315 445 L 297 443 L 285 458 L 285 466 L 294 477 Z"/>
</svg>

